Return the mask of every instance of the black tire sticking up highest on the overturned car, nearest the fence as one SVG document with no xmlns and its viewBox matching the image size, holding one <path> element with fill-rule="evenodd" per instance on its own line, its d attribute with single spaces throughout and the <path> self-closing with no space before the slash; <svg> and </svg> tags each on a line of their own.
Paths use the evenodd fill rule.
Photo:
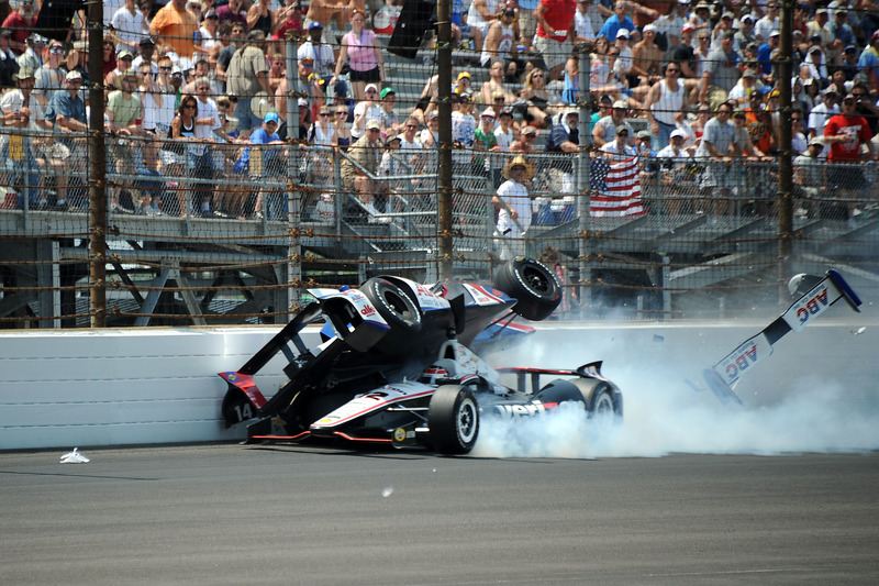
<svg viewBox="0 0 879 586">
<path fill-rule="evenodd" d="M 515 298 L 513 311 L 532 321 L 545 320 L 561 302 L 556 276 L 543 264 L 523 256 L 498 268 L 494 288 Z"/>
</svg>

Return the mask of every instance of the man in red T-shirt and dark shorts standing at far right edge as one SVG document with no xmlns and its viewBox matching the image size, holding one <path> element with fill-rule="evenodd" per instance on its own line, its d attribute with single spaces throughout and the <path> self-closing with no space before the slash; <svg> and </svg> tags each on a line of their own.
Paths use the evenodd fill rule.
<svg viewBox="0 0 879 586">
<path fill-rule="evenodd" d="M 872 139 L 870 126 L 866 119 L 855 113 L 856 106 L 856 98 L 850 93 L 847 95 L 843 98 L 842 113 L 832 117 L 824 126 L 824 144 L 831 146 L 827 183 L 832 194 L 838 194 L 848 200 L 849 220 L 857 215 L 856 199 L 869 191 L 869 184 L 860 168 L 861 146 L 867 145 L 874 159 L 879 159 L 870 142 Z"/>
</svg>

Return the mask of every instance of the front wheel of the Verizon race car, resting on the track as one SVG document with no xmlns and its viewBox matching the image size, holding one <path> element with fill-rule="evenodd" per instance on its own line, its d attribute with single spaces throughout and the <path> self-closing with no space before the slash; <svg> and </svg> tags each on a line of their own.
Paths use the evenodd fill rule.
<svg viewBox="0 0 879 586">
<path fill-rule="evenodd" d="M 441 454 L 467 454 L 479 436 L 479 406 L 472 391 L 443 385 L 431 397 L 427 411 L 431 444 Z"/>
</svg>

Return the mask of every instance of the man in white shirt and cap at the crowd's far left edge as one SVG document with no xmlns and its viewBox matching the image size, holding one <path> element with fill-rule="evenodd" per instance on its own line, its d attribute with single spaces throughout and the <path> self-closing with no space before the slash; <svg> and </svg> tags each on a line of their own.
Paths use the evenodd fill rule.
<svg viewBox="0 0 879 586">
<path fill-rule="evenodd" d="M 7 91 L 0 98 L 3 124 L 21 131 L 52 130 L 52 123 L 46 120 L 43 107 L 33 95 L 34 70 L 22 67 L 14 78 L 16 89 Z M 40 167 L 33 134 L 4 134 L 0 139 L 0 161 L 9 174 L 7 185 L 26 189 L 30 206 L 46 204 L 46 198 L 40 191 Z M 22 201 L 20 198 L 19 203 Z"/>
</svg>

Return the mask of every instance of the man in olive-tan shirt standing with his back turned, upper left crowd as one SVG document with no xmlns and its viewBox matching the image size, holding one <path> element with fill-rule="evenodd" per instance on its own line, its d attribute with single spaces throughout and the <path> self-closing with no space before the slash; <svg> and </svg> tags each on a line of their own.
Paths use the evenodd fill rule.
<svg viewBox="0 0 879 586">
<path fill-rule="evenodd" d="M 263 31 L 251 31 L 247 42 L 232 55 L 226 70 L 229 93 L 238 97 L 235 108 L 235 118 L 238 119 L 238 129 L 249 131 L 262 126 L 259 118 L 253 113 L 251 100 L 259 91 L 268 93 L 269 104 L 275 101 L 275 95 L 269 92 L 268 65 L 263 52 L 266 35 Z"/>
</svg>

